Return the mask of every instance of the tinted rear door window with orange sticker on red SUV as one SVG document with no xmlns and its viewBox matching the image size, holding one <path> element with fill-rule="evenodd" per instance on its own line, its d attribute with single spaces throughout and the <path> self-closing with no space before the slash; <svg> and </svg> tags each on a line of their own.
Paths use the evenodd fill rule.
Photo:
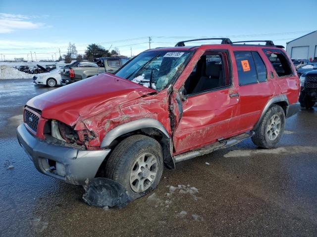
<svg viewBox="0 0 317 237">
<path fill-rule="evenodd" d="M 236 58 L 239 85 L 258 82 L 257 70 L 251 52 L 234 52 Z"/>
</svg>

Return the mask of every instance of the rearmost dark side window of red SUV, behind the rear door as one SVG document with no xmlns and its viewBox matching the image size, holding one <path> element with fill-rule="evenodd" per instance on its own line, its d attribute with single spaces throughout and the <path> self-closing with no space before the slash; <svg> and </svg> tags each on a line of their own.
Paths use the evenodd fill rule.
<svg viewBox="0 0 317 237">
<path fill-rule="evenodd" d="M 264 53 L 271 62 L 278 77 L 293 76 L 291 64 L 280 49 L 264 48 Z M 295 64 L 295 61 L 294 61 Z"/>
</svg>

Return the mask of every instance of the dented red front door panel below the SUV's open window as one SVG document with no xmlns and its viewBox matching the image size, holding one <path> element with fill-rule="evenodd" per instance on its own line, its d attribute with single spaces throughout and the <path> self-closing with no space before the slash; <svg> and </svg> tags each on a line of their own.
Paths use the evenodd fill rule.
<svg viewBox="0 0 317 237">
<path fill-rule="evenodd" d="M 230 88 L 192 95 L 182 101 L 182 116 L 174 130 L 175 154 L 203 147 L 227 137 L 236 100 Z"/>
</svg>

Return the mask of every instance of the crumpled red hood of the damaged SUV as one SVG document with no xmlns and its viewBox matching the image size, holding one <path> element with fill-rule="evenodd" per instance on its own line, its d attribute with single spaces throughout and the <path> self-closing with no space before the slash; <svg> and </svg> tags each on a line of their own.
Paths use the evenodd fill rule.
<svg viewBox="0 0 317 237">
<path fill-rule="evenodd" d="M 73 126 L 151 92 L 156 90 L 104 73 L 36 96 L 26 105 L 41 110 L 44 118 Z"/>
</svg>

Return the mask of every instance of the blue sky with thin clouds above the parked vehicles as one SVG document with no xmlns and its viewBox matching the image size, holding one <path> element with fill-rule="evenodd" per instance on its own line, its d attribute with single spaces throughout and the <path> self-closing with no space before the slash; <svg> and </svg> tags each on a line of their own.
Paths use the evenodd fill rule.
<svg viewBox="0 0 317 237">
<path fill-rule="evenodd" d="M 6 59 L 36 51 L 52 58 L 68 42 L 83 53 L 89 43 L 117 47 L 122 55 L 178 40 L 225 37 L 287 41 L 317 30 L 317 0 L 285 1 L 0 1 L 0 53 Z M 180 39 L 178 39 L 178 37 Z M 197 44 L 197 43 L 196 43 Z M 55 56 L 53 56 L 55 57 Z"/>
</svg>

